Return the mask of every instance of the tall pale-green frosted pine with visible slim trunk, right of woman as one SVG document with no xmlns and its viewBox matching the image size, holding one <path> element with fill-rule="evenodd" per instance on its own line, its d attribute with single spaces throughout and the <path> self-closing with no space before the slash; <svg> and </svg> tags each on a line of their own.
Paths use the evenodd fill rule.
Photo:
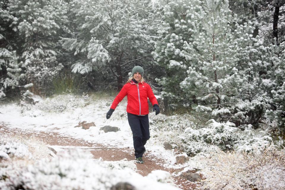
<svg viewBox="0 0 285 190">
<path fill-rule="evenodd" d="M 235 17 L 228 1 L 207 0 L 194 25 L 192 42 L 184 42 L 182 54 L 191 62 L 188 76 L 181 82 L 185 93 L 196 97 L 196 111 L 209 112 L 218 118 L 231 115 L 231 97 L 238 94 L 242 80 L 235 63 L 239 44 L 232 31 Z"/>
</svg>

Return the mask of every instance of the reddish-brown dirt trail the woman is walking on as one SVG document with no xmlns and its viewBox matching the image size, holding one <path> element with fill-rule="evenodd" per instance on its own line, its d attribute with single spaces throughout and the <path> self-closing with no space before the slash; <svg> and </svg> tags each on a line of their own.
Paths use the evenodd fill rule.
<svg viewBox="0 0 285 190">
<path fill-rule="evenodd" d="M 7 135 L 21 135 L 24 138 L 30 138 L 31 136 L 42 140 L 47 145 L 53 146 L 83 146 L 83 147 L 92 147 L 90 152 L 93 154 L 95 159 L 100 157 L 106 161 L 119 161 L 126 158 L 128 161 L 134 160 L 133 148 L 115 148 L 115 147 L 105 147 L 101 144 L 89 143 L 84 140 L 74 139 L 72 137 L 62 136 L 56 132 L 38 132 L 31 129 L 16 129 L 9 128 L 7 126 L 0 125 L 0 133 Z M 96 148 L 94 148 L 96 147 Z M 143 176 L 148 175 L 153 170 L 164 170 L 168 172 L 174 172 L 175 170 L 168 170 L 164 167 L 163 161 L 157 159 L 156 157 L 144 155 L 144 164 L 137 164 L 137 172 Z M 194 189 L 195 186 L 189 183 L 186 183 L 186 180 L 180 178 L 174 178 L 175 183 L 183 190 Z"/>
</svg>

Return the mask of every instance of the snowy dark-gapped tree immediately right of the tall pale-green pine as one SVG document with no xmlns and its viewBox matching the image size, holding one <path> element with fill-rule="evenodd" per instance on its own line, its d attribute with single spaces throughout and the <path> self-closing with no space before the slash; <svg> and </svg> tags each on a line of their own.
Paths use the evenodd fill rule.
<svg viewBox="0 0 285 190">
<path fill-rule="evenodd" d="M 242 78 L 239 94 L 233 97 L 232 116 L 238 125 L 258 126 L 267 109 L 270 108 L 270 69 L 274 60 L 274 48 L 263 45 L 263 39 L 254 36 L 251 22 L 236 24 L 239 50 L 235 67 Z"/>
</svg>

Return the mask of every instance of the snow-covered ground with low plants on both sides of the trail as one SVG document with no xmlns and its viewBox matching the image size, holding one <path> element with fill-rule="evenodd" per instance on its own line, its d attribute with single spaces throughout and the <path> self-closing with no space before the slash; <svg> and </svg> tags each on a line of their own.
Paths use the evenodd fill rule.
<svg viewBox="0 0 285 190">
<path fill-rule="evenodd" d="M 126 99 L 118 105 L 111 118 L 106 119 L 106 113 L 113 98 L 99 94 L 92 96 L 68 94 L 47 99 L 39 98 L 36 99 L 35 105 L 24 102 L 5 103 L 0 106 L 0 125 L 10 129 L 50 134 L 56 132 L 62 136 L 104 146 L 133 147 L 132 132 L 126 115 Z M 220 150 L 218 143 L 215 144 L 214 138 L 221 139 L 224 136 L 237 138 L 236 136 L 242 134 L 236 132 L 230 124 L 212 122 L 208 128 L 199 129 L 194 122 L 190 121 L 191 118 L 188 120 L 178 116 L 167 117 L 154 113 L 150 113 L 149 118 L 151 139 L 146 144 L 147 152 L 151 156 L 163 159 L 164 167 L 182 169 L 181 172 L 172 175 L 177 176 L 188 170 L 198 170 L 197 173 L 206 177 L 201 186 L 204 189 L 248 189 L 250 186 L 258 189 L 282 189 L 285 186 L 285 180 L 282 180 L 285 177 L 285 153 L 274 146 L 266 149 L 265 146 L 268 147 L 270 144 L 270 137 L 267 135 L 260 138 L 251 135 L 252 143 L 244 139 L 237 143 L 240 146 L 235 148 L 241 150 L 240 152 L 225 153 Z M 94 122 L 96 126 L 87 130 L 75 127 L 82 121 Z M 119 131 L 105 133 L 100 130 L 107 125 L 118 127 Z M 222 132 L 218 134 L 219 130 Z M 213 134 L 212 137 L 210 133 Z M 205 143 L 209 138 L 213 143 Z M 40 153 L 35 156 L 35 153 L 29 153 L 29 147 L 25 148 L 20 142 L 20 144 L 12 142 L 13 140 L 8 137 L 1 139 L 0 189 L 17 185 L 25 185 L 26 189 L 72 189 L 73 187 L 75 189 L 110 189 L 119 182 L 128 182 L 137 189 L 177 189 L 168 172 L 153 171 L 143 177 L 135 172 L 136 166 L 132 161 L 95 160 L 92 159 L 88 150 L 83 151 L 82 148 L 72 151 L 67 149 L 54 155 L 53 158 L 41 159 Z M 175 164 L 177 155 L 174 149 L 165 150 L 164 142 L 173 143 L 173 147 L 184 149 L 188 153 L 193 152 L 196 156 L 189 157 L 189 162 L 185 164 Z M 21 151 L 18 151 L 11 161 L 7 154 L 7 147 L 22 148 L 18 148 Z M 257 151 L 247 154 L 243 151 L 245 149 L 240 147 Z M 261 151 L 260 147 L 265 151 Z M 44 148 L 42 150 L 48 151 Z M 259 159 L 256 156 L 259 156 Z M 26 165 L 16 162 L 24 157 L 25 160 L 37 160 L 37 162 L 32 162 L 32 165 L 29 165 L 30 161 L 26 162 Z M 9 164 L 11 162 L 17 164 Z M 254 175 L 251 176 L 253 173 Z M 9 180 L 7 176 L 10 176 Z M 92 180 L 92 183 L 88 183 Z M 14 182 L 15 184 L 11 184 Z"/>
</svg>

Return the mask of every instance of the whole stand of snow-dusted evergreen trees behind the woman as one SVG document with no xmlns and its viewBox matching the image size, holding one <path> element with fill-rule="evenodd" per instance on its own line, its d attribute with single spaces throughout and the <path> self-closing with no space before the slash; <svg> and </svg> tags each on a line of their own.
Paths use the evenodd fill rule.
<svg viewBox="0 0 285 190">
<path fill-rule="evenodd" d="M 285 137 L 284 1 L 0 5 L 2 98 L 119 90 L 141 64 L 167 113 L 185 108 Z"/>
</svg>

